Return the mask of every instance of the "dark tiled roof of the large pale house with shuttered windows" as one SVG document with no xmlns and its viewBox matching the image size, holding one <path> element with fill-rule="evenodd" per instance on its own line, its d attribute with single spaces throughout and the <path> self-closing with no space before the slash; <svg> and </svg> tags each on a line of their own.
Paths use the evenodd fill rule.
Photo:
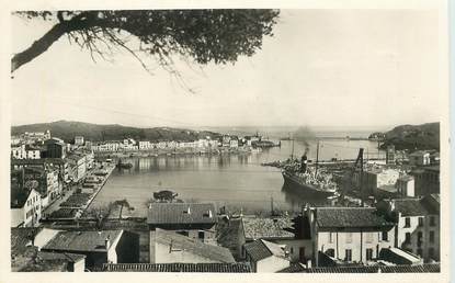
<svg viewBox="0 0 455 283">
<path fill-rule="evenodd" d="M 374 207 L 318 207 L 316 220 L 319 228 L 383 228 L 391 227 Z"/>
</svg>

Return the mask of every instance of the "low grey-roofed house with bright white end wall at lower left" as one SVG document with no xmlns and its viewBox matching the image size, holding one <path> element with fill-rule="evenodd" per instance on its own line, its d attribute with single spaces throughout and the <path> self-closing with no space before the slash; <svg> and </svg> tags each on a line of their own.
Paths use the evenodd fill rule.
<svg viewBox="0 0 455 283">
<path fill-rule="evenodd" d="M 139 261 L 139 236 L 125 230 L 59 231 L 41 249 L 46 252 L 86 256 L 86 269 L 103 263 L 135 263 Z"/>
</svg>

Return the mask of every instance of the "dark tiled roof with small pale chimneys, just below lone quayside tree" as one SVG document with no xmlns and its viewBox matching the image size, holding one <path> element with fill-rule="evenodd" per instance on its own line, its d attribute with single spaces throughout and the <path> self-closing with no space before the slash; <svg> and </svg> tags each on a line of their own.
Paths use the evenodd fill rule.
<svg viewBox="0 0 455 283">
<path fill-rule="evenodd" d="M 148 210 L 148 224 L 215 224 L 212 203 L 152 203 Z"/>
</svg>

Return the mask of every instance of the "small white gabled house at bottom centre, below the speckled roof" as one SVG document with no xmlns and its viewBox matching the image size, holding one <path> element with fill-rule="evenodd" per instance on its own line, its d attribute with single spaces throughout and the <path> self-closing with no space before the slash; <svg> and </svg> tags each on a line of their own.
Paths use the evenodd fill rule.
<svg viewBox="0 0 455 283">
<path fill-rule="evenodd" d="M 253 272 L 277 272 L 289 267 L 284 246 L 259 239 L 244 245 L 247 261 Z"/>
</svg>

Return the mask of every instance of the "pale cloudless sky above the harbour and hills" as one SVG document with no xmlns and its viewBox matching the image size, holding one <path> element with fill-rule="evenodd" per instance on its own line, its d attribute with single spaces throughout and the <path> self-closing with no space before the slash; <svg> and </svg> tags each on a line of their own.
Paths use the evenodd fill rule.
<svg viewBox="0 0 455 283">
<path fill-rule="evenodd" d="M 52 23 L 12 16 L 12 53 Z M 125 52 L 105 61 L 61 37 L 13 73 L 12 124 L 379 127 L 440 121 L 437 11 L 282 10 L 274 36 L 231 65 L 178 60 L 189 92 Z"/>
</svg>

